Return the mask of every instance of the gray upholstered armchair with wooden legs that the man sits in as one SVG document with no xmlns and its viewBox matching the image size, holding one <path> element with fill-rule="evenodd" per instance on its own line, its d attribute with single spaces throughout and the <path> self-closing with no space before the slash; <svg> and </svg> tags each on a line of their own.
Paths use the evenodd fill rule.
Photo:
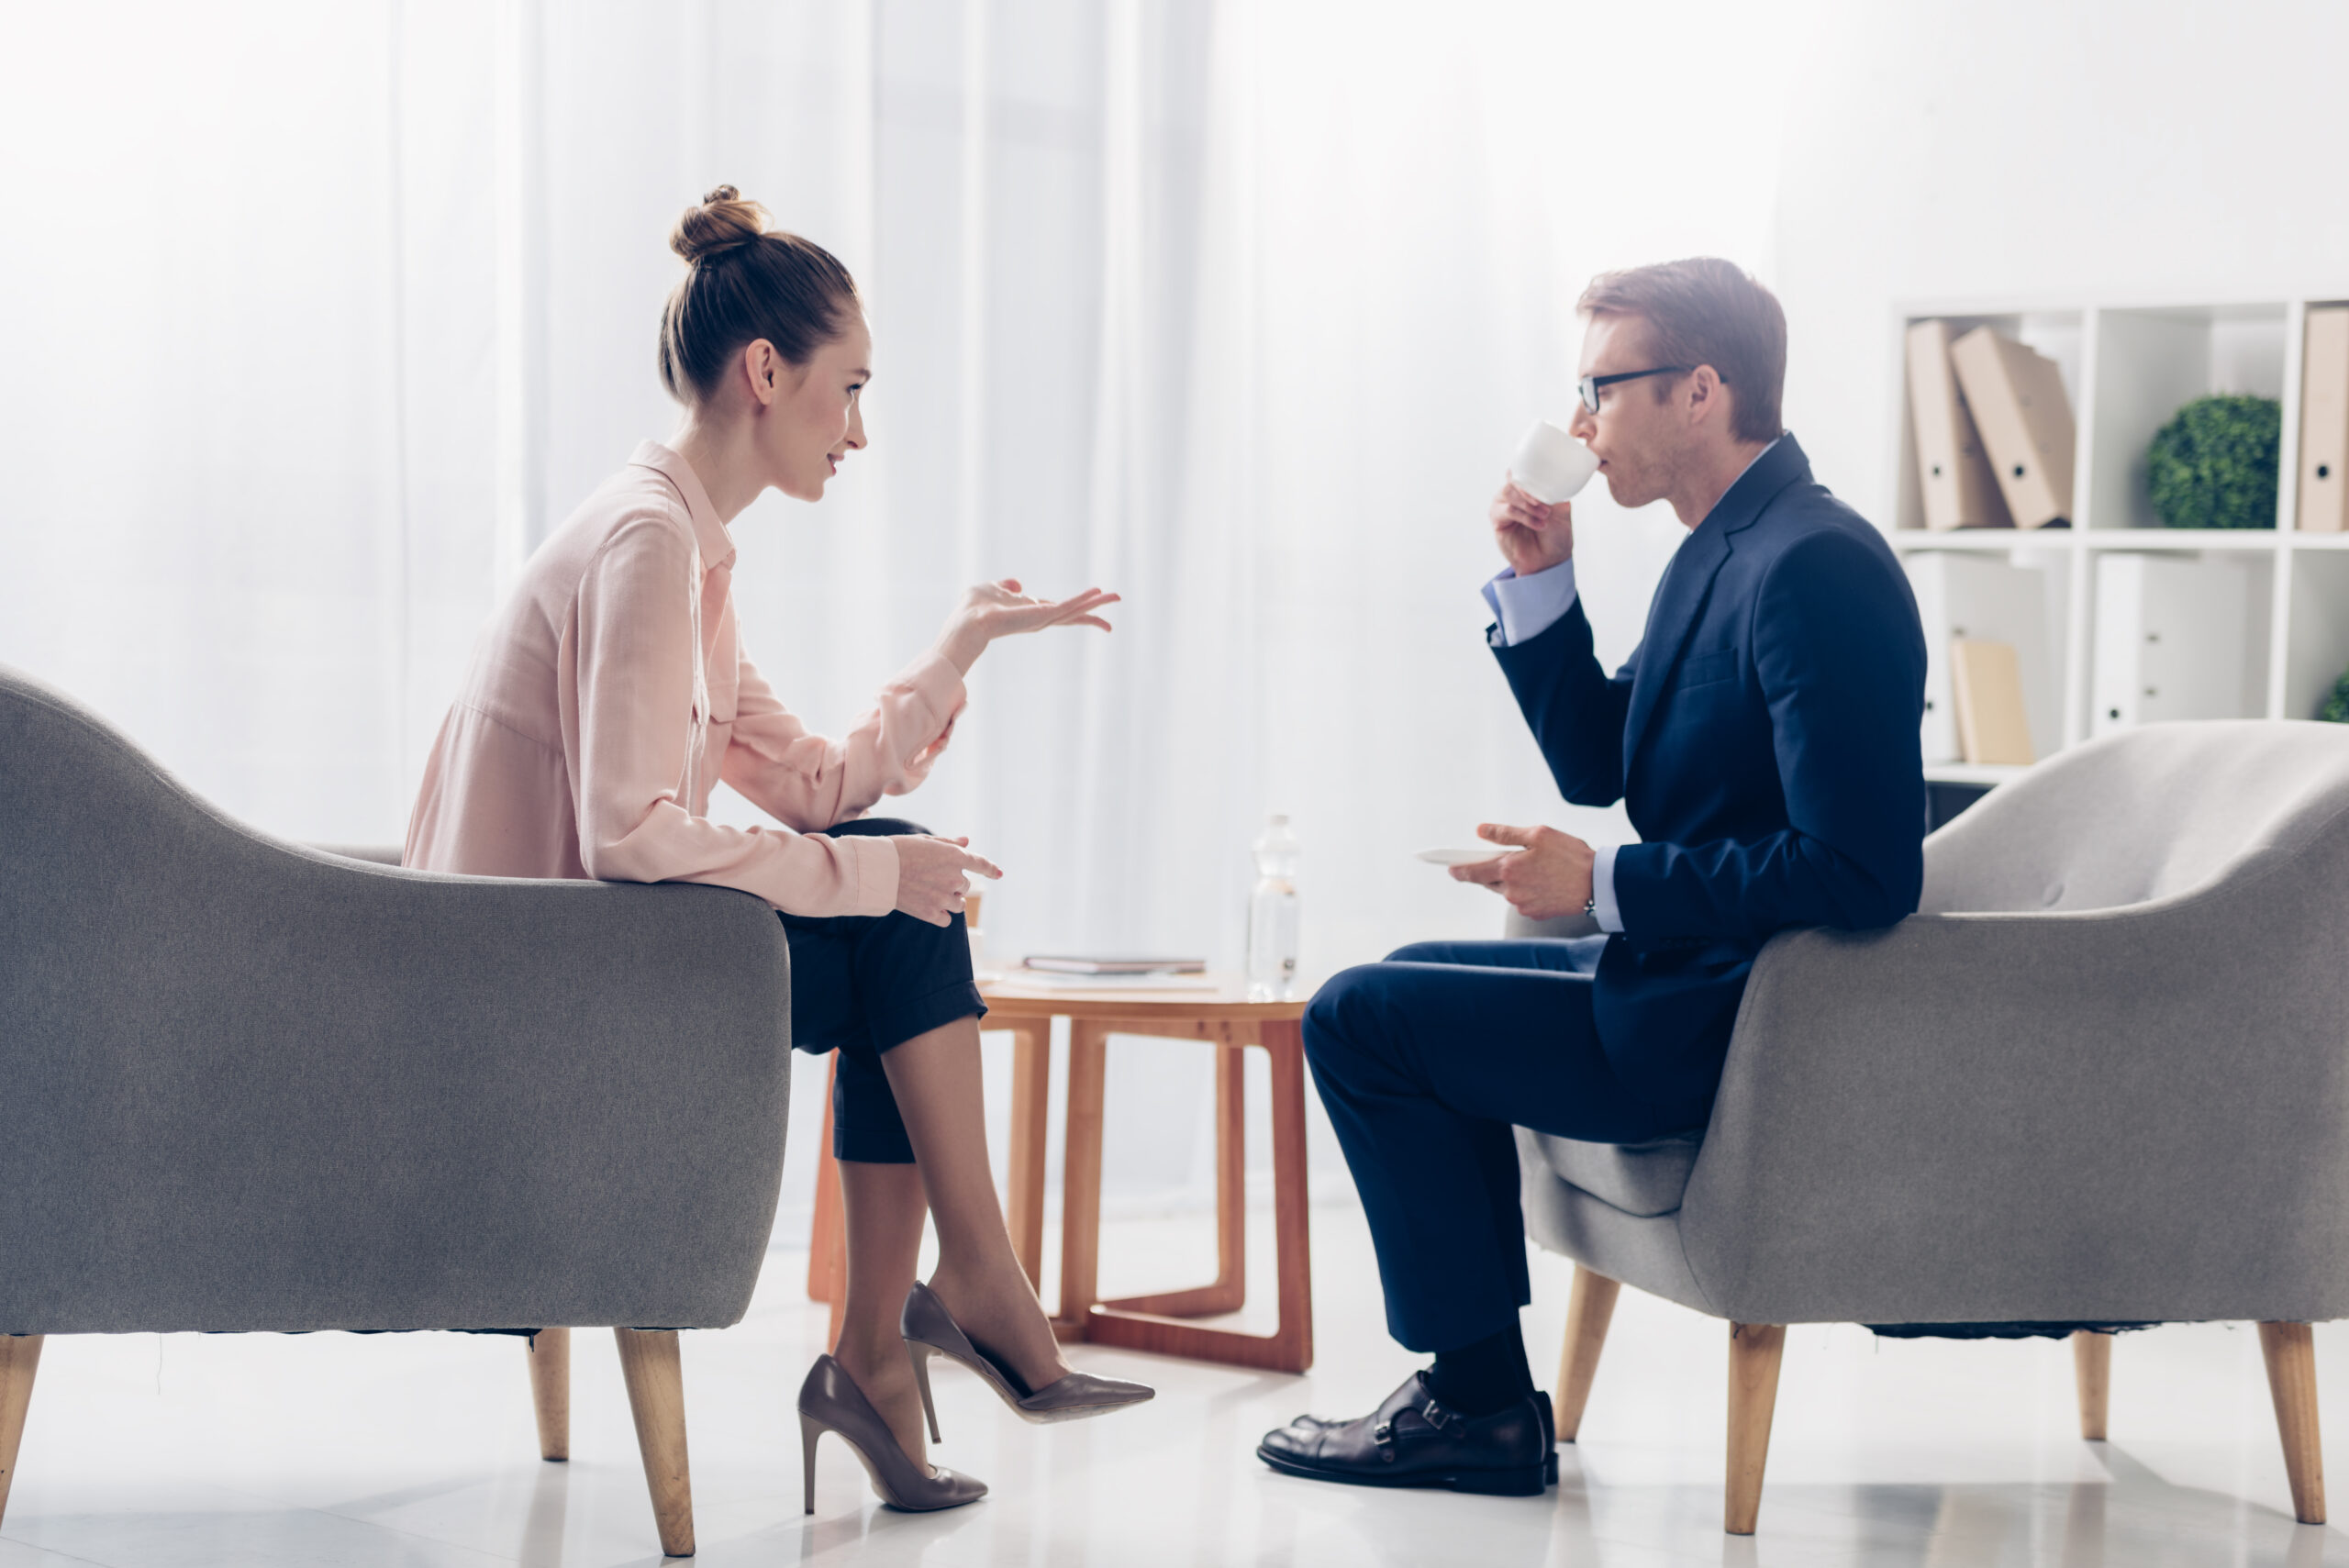
<svg viewBox="0 0 2349 1568">
<path fill-rule="evenodd" d="M 1567 932 L 1557 932 L 1567 934 Z M 1762 1495 L 1785 1324 L 2072 1331 L 2105 1437 L 2121 1324 L 2260 1324 L 2323 1521 L 2309 1322 L 2349 1317 L 2349 728 L 2077 746 L 1926 840 L 1921 913 L 1762 948 L 1701 1138 L 1520 1129 L 1576 1261 L 1571 1439 L 1621 1284 L 1731 1322 L 1727 1528 Z"/>
</svg>

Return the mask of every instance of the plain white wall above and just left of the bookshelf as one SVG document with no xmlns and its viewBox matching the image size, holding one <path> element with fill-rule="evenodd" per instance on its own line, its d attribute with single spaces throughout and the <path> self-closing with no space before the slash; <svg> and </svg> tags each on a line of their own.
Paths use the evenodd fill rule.
<svg viewBox="0 0 2349 1568">
<path fill-rule="evenodd" d="M 1823 0 L 1778 195 L 1788 425 L 1891 521 L 1907 300 L 2349 296 L 2349 5 Z"/>
</svg>

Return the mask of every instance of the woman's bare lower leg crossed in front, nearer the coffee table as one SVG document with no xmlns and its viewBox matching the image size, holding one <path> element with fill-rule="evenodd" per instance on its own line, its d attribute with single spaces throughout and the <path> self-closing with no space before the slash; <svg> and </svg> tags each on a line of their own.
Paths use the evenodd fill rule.
<svg viewBox="0 0 2349 1568">
<path fill-rule="evenodd" d="M 881 1066 L 914 1141 L 930 1218 L 937 1221 L 937 1272 L 930 1275 L 930 1289 L 954 1312 L 954 1322 L 1010 1361 L 1031 1390 L 1064 1378 L 1069 1364 L 1059 1357 L 1059 1340 L 1052 1338 L 1052 1322 L 1043 1314 L 1036 1289 L 1012 1256 L 996 1174 L 987 1164 L 980 1021 L 956 1019 L 914 1035 L 881 1052 Z M 855 1251 L 848 1268 L 853 1277 Z"/>
</svg>

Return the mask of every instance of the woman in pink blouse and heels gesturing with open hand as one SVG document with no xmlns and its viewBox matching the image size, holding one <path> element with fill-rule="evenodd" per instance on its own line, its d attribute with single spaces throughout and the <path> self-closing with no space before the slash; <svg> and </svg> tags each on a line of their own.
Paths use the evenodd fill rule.
<svg viewBox="0 0 2349 1568">
<path fill-rule="evenodd" d="M 768 232 L 733 185 L 688 209 L 669 246 L 686 277 L 662 310 L 660 378 L 686 406 L 679 434 L 639 446 L 531 556 L 432 744 L 406 864 L 716 883 L 780 911 L 794 1045 L 841 1052 L 848 1303 L 839 1359 L 817 1357 L 799 1394 L 808 1512 L 827 1430 L 888 1502 L 954 1507 L 987 1486 L 923 1458 L 933 1352 L 1029 1420 L 1151 1390 L 1069 1371 L 1003 1230 L 961 913 L 965 873 L 1001 871 L 965 838 L 862 812 L 921 784 L 991 641 L 1106 631 L 1097 610 L 1116 594 L 980 584 L 846 737 L 808 735 L 738 648 L 726 523 L 768 488 L 820 500 L 864 446 L 871 336 L 846 268 Z M 709 822 L 719 779 L 782 826 Z M 928 1286 L 914 1282 L 923 1211 L 940 1242 Z"/>
</svg>

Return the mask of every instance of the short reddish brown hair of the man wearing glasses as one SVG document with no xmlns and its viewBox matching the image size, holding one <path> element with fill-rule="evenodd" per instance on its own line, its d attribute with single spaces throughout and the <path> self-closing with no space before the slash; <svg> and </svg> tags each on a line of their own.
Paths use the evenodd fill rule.
<svg viewBox="0 0 2349 1568">
<path fill-rule="evenodd" d="M 1755 277 L 1717 256 L 1600 272 L 1574 305 L 1581 315 L 1640 317 L 1656 364 L 1710 364 L 1729 387 L 1738 441 L 1785 434 L 1785 310 Z M 1663 397 L 1663 383 L 1658 383 Z"/>
</svg>

